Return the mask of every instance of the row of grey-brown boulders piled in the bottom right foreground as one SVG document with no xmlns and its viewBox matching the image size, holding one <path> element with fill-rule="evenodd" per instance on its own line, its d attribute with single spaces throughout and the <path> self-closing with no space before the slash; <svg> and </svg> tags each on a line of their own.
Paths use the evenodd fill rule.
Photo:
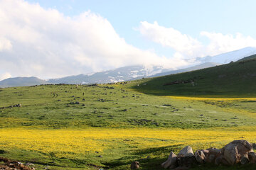
<svg viewBox="0 0 256 170">
<path fill-rule="evenodd" d="M 193 153 L 192 147 L 187 146 L 181 152 L 171 152 L 166 162 L 161 166 L 164 169 L 189 169 L 199 164 L 215 164 L 234 166 L 235 164 L 256 164 L 256 153 L 252 144 L 246 140 L 234 140 L 222 149 L 210 148 L 197 150 Z"/>
</svg>

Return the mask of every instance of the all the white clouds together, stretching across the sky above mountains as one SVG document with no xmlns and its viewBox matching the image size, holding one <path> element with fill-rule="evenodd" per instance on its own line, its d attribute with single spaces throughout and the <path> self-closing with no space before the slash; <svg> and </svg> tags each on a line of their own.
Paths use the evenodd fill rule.
<svg viewBox="0 0 256 170">
<path fill-rule="evenodd" d="M 134 64 L 176 69 L 196 57 L 256 46 L 256 40 L 240 33 L 203 31 L 199 36 L 209 40 L 204 45 L 157 22 L 143 21 L 137 30 L 176 52 L 165 57 L 129 45 L 106 18 L 91 11 L 69 17 L 24 0 L 0 0 L 0 80 L 11 76 L 58 78 Z"/>
</svg>

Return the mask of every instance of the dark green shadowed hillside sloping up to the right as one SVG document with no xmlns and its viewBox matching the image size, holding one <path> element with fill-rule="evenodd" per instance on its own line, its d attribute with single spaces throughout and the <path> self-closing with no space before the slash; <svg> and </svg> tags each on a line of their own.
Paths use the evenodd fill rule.
<svg viewBox="0 0 256 170">
<path fill-rule="evenodd" d="M 256 97 L 256 60 L 134 81 L 133 89 L 160 96 Z"/>
</svg>

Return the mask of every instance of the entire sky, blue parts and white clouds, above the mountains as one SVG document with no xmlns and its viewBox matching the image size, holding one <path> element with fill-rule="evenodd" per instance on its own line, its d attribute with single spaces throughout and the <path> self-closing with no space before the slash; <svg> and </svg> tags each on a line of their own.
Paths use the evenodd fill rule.
<svg viewBox="0 0 256 170">
<path fill-rule="evenodd" d="M 0 80 L 135 64 L 178 69 L 256 47 L 254 0 L 0 0 Z"/>
</svg>

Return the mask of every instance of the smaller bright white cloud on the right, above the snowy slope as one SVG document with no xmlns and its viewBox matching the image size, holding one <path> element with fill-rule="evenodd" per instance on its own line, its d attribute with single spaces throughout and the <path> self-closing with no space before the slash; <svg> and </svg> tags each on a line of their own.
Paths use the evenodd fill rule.
<svg viewBox="0 0 256 170">
<path fill-rule="evenodd" d="M 209 33 L 206 31 L 202 31 L 200 35 L 208 38 L 210 43 L 203 45 L 196 38 L 182 34 L 174 28 L 159 26 L 156 21 L 154 23 L 143 21 L 137 30 L 145 38 L 176 50 L 176 55 L 179 55 L 179 58 L 193 59 L 195 57 L 205 57 L 206 55 L 218 55 L 248 46 L 256 47 L 256 40 L 250 36 L 245 37 L 240 33 L 235 36 L 230 34 L 223 35 L 222 33 Z"/>
</svg>

